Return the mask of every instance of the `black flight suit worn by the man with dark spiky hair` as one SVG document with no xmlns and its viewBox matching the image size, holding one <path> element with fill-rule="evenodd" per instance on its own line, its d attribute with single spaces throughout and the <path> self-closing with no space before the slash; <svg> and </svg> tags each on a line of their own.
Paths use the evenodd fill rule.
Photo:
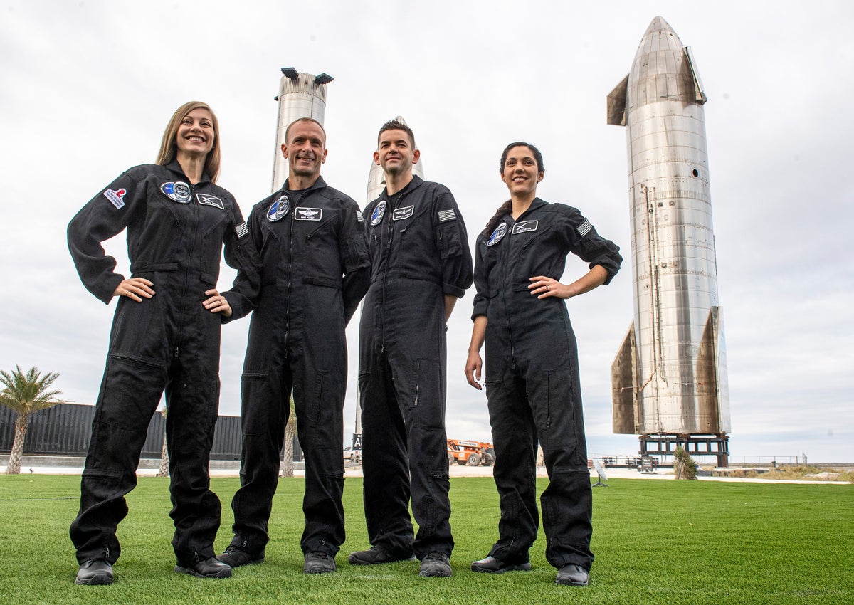
<svg viewBox="0 0 854 605">
<path fill-rule="evenodd" d="M 365 516 L 372 545 L 450 555 L 445 435 L 445 295 L 471 285 L 471 251 L 451 192 L 417 176 L 365 209 L 371 289 L 362 308 L 359 388 Z M 418 522 L 412 541 L 409 517 Z"/>
</svg>

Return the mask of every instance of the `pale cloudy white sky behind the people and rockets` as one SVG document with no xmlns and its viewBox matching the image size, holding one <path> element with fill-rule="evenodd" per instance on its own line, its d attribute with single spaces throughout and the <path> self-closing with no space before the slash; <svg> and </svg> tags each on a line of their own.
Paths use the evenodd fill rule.
<svg viewBox="0 0 854 605">
<path fill-rule="evenodd" d="M 605 125 L 605 96 L 655 15 L 693 47 L 709 96 L 734 459 L 854 461 L 847 2 L 2 0 L 0 367 L 59 372 L 67 400 L 95 401 L 114 304 L 80 284 L 68 220 L 127 167 L 152 162 L 169 116 L 191 99 L 219 115 L 219 184 L 249 213 L 270 191 L 283 67 L 335 78 L 324 176 L 360 203 L 377 128 L 403 115 L 425 176 L 454 192 L 473 241 L 506 199 L 500 151 L 529 140 L 547 167 L 540 196 L 582 209 L 628 258 L 625 132 Z M 123 241 L 108 244 L 120 267 Z M 570 259 L 564 281 L 585 269 Z M 611 361 L 633 314 L 623 269 L 569 303 L 592 455 L 638 449 L 611 431 Z M 225 267 L 220 287 L 232 278 Z M 448 330 L 447 429 L 488 439 L 485 396 L 462 372 L 470 309 L 471 292 Z M 239 414 L 248 325 L 224 328 L 221 414 Z"/>
</svg>

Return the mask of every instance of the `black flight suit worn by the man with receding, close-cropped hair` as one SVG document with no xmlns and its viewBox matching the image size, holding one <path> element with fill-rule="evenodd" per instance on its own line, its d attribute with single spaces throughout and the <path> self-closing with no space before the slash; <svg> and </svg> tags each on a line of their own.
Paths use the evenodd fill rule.
<svg viewBox="0 0 854 605">
<path fill-rule="evenodd" d="M 319 177 L 301 191 L 288 191 L 285 181 L 255 204 L 248 222 L 260 250 L 261 285 L 243 363 L 241 487 L 231 501 L 231 545 L 260 555 L 269 540 L 293 391 L 306 463 L 301 548 L 334 557 L 344 542 L 344 328 L 371 277 L 362 216 L 353 199 Z M 245 288 L 238 273 L 235 290 Z"/>
</svg>

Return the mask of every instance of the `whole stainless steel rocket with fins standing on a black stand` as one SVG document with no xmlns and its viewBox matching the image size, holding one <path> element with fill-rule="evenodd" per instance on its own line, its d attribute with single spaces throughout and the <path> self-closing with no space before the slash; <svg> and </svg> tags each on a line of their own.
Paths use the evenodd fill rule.
<svg viewBox="0 0 854 605">
<path fill-rule="evenodd" d="M 691 50 L 656 17 L 607 101 L 608 123 L 626 126 L 635 297 L 611 384 L 614 432 L 641 435 L 641 442 L 652 434 L 659 443 L 713 436 L 726 449 L 705 101 Z"/>
</svg>

